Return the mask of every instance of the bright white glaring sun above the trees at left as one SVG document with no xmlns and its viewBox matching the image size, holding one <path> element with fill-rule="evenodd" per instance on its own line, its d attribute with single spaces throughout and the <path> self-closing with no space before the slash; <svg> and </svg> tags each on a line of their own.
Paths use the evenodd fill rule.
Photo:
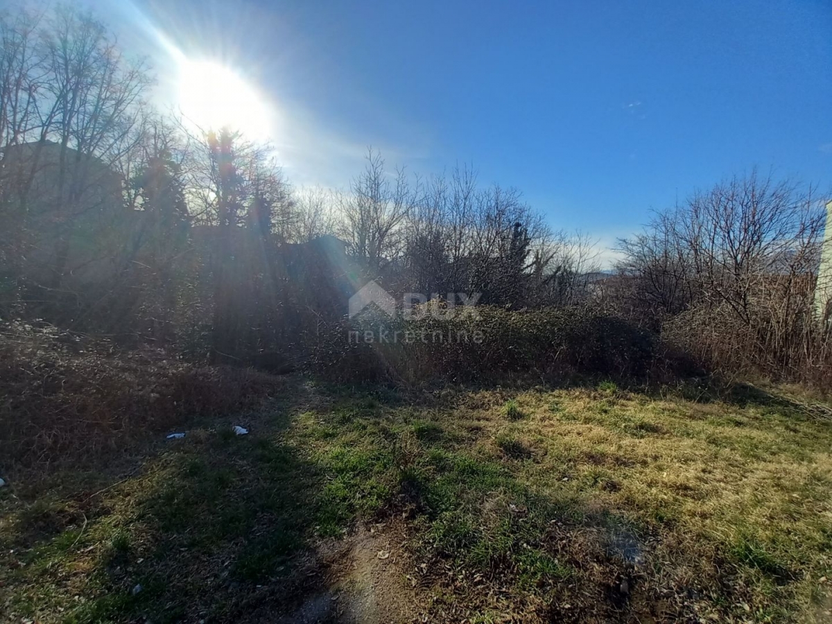
<svg viewBox="0 0 832 624">
<path fill-rule="evenodd" d="M 268 139 L 271 124 L 265 97 L 228 67 L 210 61 L 179 64 L 179 106 L 204 130 L 228 126 L 249 139 Z"/>
</svg>

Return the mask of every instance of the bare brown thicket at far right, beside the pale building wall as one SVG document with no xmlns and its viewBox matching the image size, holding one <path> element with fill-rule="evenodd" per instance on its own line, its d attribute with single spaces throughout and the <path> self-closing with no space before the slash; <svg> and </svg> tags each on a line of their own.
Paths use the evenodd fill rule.
<svg viewBox="0 0 832 624">
<path fill-rule="evenodd" d="M 620 241 L 619 311 L 726 374 L 828 382 L 829 316 L 815 301 L 821 200 L 753 171 L 656 214 Z"/>
</svg>

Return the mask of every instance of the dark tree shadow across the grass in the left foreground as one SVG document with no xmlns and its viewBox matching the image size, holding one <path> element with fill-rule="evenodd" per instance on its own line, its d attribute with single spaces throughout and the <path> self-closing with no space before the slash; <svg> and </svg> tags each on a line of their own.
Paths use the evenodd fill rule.
<svg viewBox="0 0 832 624">
<path fill-rule="evenodd" d="M 250 610 L 252 592 L 258 608 L 291 610 L 299 583 L 314 584 L 295 577 L 297 556 L 338 528 L 318 524 L 320 492 L 319 473 L 284 444 L 223 434 L 182 444 L 97 507 L 78 508 L 86 525 L 75 517 L 43 531 L 67 512 L 41 508 L 42 523 L 19 534 L 32 546 L 23 574 L 45 587 L 52 572 L 86 568 L 89 600 L 67 622 L 229 620 Z M 263 595 L 264 584 L 281 591 Z"/>
</svg>

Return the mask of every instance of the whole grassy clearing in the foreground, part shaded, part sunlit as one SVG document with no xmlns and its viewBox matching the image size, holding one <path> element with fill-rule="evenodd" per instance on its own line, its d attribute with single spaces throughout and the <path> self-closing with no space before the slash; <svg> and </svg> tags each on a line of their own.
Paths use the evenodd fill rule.
<svg viewBox="0 0 832 624">
<path fill-rule="evenodd" d="M 609 382 L 280 394 L 12 470 L 0 619 L 832 621 L 828 409 Z"/>
</svg>

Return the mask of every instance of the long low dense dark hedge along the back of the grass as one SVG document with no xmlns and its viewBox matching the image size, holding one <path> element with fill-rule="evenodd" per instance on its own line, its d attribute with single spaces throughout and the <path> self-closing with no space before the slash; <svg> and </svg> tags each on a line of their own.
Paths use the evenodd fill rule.
<svg viewBox="0 0 832 624">
<path fill-rule="evenodd" d="M 319 336 L 312 367 L 339 381 L 408 384 L 575 373 L 632 378 L 646 374 L 656 354 L 655 334 L 592 310 L 481 306 L 431 314 L 437 310 L 427 305 L 410 319 L 367 311 L 344 320 Z"/>
</svg>

